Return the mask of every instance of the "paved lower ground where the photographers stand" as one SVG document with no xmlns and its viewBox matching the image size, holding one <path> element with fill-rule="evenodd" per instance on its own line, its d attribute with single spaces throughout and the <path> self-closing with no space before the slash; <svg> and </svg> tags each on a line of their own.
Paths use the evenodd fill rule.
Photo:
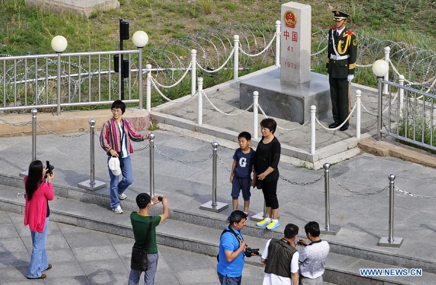
<svg viewBox="0 0 436 285">
<path fill-rule="evenodd" d="M 51 270 L 44 280 L 27 280 L 32 251 L 24 216 L 0 211 L 0 285 L 126 284 L 133 239 L 50 221 L 47 255 Z M 217 259 L 158 245 L 155 285 L 219 285 Z M 246 264 L 243 284 L 261 284 L 263 267 Z M 140 283 L 144 284 L 142 274 Z M 330 283 L 325 283 L 325 285 Z"/>
</svg>

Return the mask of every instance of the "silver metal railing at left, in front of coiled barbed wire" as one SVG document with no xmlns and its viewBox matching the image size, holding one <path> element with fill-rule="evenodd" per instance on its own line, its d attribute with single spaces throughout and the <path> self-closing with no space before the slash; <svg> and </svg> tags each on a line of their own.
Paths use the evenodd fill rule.
<svg viewBox="0 0 436 285">
<path fill-rule="evenodd" d="M 60 115 L 62 107 L 108 105 L 122 98 L 122 84 L 124 102 L 142 108 L 141 54 L 139 48 L 0 57 L 0 110 L 56 108 Z M 129 60 L 126 78 L 118 72 L 121 55 Z"/>
</svg>

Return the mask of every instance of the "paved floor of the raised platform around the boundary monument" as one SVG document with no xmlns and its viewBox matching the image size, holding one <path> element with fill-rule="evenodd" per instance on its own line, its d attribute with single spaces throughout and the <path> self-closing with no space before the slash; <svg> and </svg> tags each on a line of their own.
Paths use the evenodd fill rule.
<svg viewBox="0 0 436 285">
<path fill-rule="evenodd" d="M 356 90 L 357 87 L 351 89 L 351 107 L 353 107 L 356 102 Z M 361 89 L 361 88 L 360 88 Z M 239 109 L 239 88 L 231 86 L 228 89 L 218 90 L 206 94 L 210 101 L 218 107 L 218 109 L 227 113 L 240 113 L 242 110 Z M 259 94 L 262 96 L 262 94 Z M 365 107 L 372 113 L 377 113 L 377 98 L 375 97 L 375 92 L 362 89 L 362 103 Z M 187 120 L 192 120 L 197 122 L 198 120 L 198 102 L 196 99 L 189 100 L 185 103 L 174 104 L 172 106 L 163 108 L 161 113 L 173 115 Z M 369 131 L 376 130 L 377 118 L 373 115 L 367 113 L 362 108 L 361 113 L 361 133 L 366 133 Z M 249 131 L 251 134 L 253 132 L 253 112 L 245 112 L 238 116 L 226 116 L 224 114 L 216 111 L 212 105 L 203 98 L 203 123 L 212 126 L 218 126 L 227 130 L 232 130 L 235 132 Z M 356 111 L 354 115 L 356 114 Z M 270 116 L 271 114 L 266 114 Z M 272 116 L 274 118 L 274 116 Z M 261 113 L 258 115 L 258 121 L 260 122 L 265 117 Z M 278 125 L 285 129 L 293 129 L 300 126 L 299 123 L 286 121 L 282 119 L 275 118 Z M 322 120 L 322 123 L 327 127 L 333 122 L 332 118 L 327 118 Z M 325 146 L 331 145 L 334 142 L 355 137 L 356 136 L 356 117 L 353 116 L 350 121 L 350 128 L 346 132 L 341 131 L 326 131 L 319 124 L 316 124 L 316 148 L 323 148 Z M 259 127 L 260 136 L 260 127 Z M 295 130 L 295 131 L 283 131 L 278 129 L 276 131 L 276 136 L 282 143 L 286 143 L 290 146 L 294 146 L 303 150 L 310 151 L 311 149 L 311 126 L 310 122 L 308 125 Z"/>
</svg>

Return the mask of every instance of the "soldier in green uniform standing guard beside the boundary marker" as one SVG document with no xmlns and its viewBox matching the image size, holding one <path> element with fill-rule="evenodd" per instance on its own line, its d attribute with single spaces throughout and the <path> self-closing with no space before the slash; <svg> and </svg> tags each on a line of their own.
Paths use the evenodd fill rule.
<svg viewBox="0 0 436 285">
<path fill-rule="evenodd" d="M 349 15 L 332 11 L 335 26 L 328 31 L 327 69 L 333 120 L 329 128 L 336 128 L 350 114 L 350 83 L 354 78 L 357 56 L 356 35 L 345 28 Z M 340 128 L 348 129 L 349 120 Z"/>
</svg>

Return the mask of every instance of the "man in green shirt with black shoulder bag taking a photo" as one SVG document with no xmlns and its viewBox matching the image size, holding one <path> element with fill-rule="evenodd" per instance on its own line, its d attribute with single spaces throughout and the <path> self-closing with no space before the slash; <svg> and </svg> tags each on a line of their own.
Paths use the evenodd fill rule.
<svg viewBox="0 0 436 285">
<path fill-rule="evenodd" d="M 139 211 L 132 212 L 130 214 L 130 221 L 132 223 L 133 235 L 135 236 L 135 247 L 145 247 L 147 240 L 149 214 L 148 210 L 151 206 L 159 203 L 159 195 L 156 195 L 151 199 L 150 195 L 141 193 L 136 196 L 136 204 L 139 207 Z M 145 285 L 153 285 L 155 282 L 156 267 L 157 267 L 157 244 L 156 244 L 156 226 L 165 221 L 168 216 L 168 199 L 167 196 L 162 197 L 162 214 L 159 216 L 152 216 L 152 226 L 150 234 L 150 242 L 147 252 L 147 265 L 148 270 L 145 271 Z M 142 271 L 130 270 L 128 285 L 138 285 Z"/>
</svg>

